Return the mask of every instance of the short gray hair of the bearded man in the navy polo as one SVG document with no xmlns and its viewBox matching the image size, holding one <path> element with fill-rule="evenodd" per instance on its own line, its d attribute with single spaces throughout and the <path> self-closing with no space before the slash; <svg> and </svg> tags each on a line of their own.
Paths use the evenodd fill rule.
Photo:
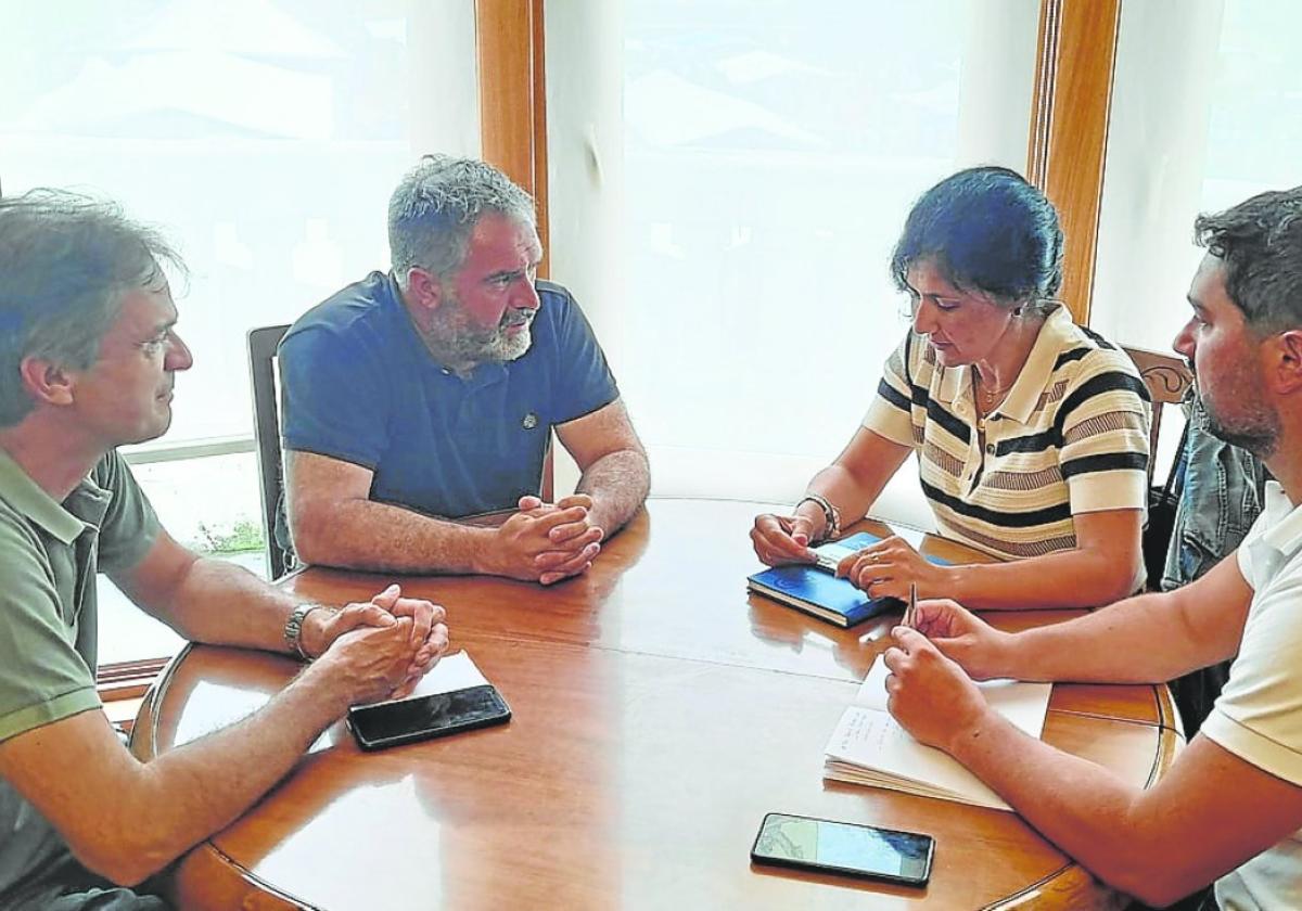
<svg viewBox="0 0 1302 911">
<path fill-rule="evenodd" d="M 426 155 L 389 198 L 389 258 L 400 284 L 419 267 L 440 280 L 466 259 L 470 233 L 484 212 L 536 226 L 533 198 L 475 159 Z"/>
</svg>

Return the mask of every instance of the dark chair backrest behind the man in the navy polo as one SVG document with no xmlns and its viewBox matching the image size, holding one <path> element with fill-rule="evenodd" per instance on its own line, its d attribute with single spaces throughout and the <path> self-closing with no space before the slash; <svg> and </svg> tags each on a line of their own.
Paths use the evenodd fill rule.
<svg viewBox="0 0 1302 911">
<path fill-rule="evenodd" d="M 271 579 L 294 567 L 294 554 L 276 541 L 276 510 L 284 491 L 284 463 L 280 453 L 280 405 L 276 388 L 276 346 L 288 325 L 250 329 L 249 380 L 253 388 L 253 436 L 258 450 L 258 479 L 262 495 L 262 534 L 267 541 L 267 574 Z"/>
</svg>

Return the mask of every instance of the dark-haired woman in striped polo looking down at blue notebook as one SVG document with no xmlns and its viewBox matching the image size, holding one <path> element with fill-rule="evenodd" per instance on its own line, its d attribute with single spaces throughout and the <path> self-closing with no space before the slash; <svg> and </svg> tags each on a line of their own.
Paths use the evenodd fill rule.
<svg viewBox="0 0 1302 911">
<path fill-rule="evenodd" d="M 1053 206 L 1005 168 L 945 178 L 914 204 L 891 259 L 913 327 L 845 450 L 790 515 L 755 519 L 769 565 L 867 513 L 910 453 L 945 537 L 1003 564 L 936 566 L 892 537 L 838 574 L 872 596 L 971 608 L 1092 606 L 1143 582 L 1148 393 L 1130 358 L 1053 301 Z"/>
</svg>

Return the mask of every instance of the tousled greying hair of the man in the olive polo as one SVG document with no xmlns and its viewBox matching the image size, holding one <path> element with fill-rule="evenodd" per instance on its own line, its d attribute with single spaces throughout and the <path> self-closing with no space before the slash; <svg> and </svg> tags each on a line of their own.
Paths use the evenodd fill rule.
<svg viewBox="0 0 1302 911">
<path fill-rule="evenodd" d="M 115 203 L 49 189 L 0 199 L 0 427 L 35 405 L 23 359 L 91 367 L 122 295 L 167 282 L 161 262 L 185 271 L 156 230 Z"/>
</svg>

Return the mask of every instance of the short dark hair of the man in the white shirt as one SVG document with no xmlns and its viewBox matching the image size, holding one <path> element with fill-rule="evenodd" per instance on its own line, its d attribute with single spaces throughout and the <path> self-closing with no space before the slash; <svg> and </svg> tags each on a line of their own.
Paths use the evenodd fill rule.
<svg viewBox="0 0 1302 911">
<path fill-rule="evenodd" d="M 1302 327 L 1302 186 L 1259 193 L 1194 220 L 1194 242 L 1221 260 L 1225 293 L 1249 327 Z"/>
</svg>

